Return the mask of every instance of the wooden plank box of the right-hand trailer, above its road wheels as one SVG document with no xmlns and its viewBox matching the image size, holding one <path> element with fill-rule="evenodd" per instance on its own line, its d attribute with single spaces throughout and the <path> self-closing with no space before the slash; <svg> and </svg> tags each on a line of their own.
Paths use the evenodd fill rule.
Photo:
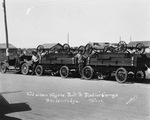
<svg viewBox="0 0 150 120">
<path fill-rule="evenodd" d="M 91 66 L 143 66 L 143 57 L 140 54 L 105 53 L 88 58 L 87 65 Z"/>
</svg>

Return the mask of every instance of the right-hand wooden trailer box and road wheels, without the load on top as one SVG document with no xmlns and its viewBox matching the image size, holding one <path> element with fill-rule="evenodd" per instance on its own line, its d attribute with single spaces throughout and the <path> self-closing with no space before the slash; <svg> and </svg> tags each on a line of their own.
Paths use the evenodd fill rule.
<svg viewBox="0 0 150 120">
<path fill-rule="evenodd" d="M 145 79 L 145 71 L 150 67 L 150 58 L 145 54 L 130 53 L 98 53 L 87 58 L 83 69 L 83 77 L 91 79 L 94 75 L 101 75 L 104 79 L 115 72 L 115 79 L 124 83 L 130 77 L 138 81 Z"/>
</svg>

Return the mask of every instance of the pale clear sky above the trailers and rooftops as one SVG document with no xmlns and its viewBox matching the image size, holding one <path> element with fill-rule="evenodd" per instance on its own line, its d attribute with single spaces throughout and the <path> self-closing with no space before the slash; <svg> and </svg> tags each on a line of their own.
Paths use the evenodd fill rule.
<svg viewBox="0 0 150 120">
<path fill-rule="evenodd" d="M 6 0 L 6 10 L 9 43 L 19 48 L 150 40 L 150 0 Z M 5 42 L 1 4 L 0 43 Z"/>
</svg>

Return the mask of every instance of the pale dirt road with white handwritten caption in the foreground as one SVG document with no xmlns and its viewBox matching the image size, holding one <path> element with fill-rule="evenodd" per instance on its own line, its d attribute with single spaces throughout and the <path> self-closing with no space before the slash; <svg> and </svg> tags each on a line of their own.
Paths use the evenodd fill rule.
<svg viewBox="0 0 150 120">
<path fill-rule="evenodd" d="M 0 73 L 0 93 L 11 107 L 2 120 L 150 120 L 150 80 Z"/>
</svg>

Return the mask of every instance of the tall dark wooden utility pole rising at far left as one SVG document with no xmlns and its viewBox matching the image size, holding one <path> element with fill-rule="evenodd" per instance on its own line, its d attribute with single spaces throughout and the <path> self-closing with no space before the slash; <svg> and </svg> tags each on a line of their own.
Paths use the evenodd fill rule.
<svg viewBox="0 0 150 120">
<path fill-rule="evenodd" d="M 7 17 L 6 17 L 6 3 L 3 0 L 3 8 L 4 8 L 4 23 L 5 23 L 5 33 L 6 33 L 6 57 L 9 61 L 9 44 L 8 44 L 8 29 L 7 29 Z"/>
</svg>

